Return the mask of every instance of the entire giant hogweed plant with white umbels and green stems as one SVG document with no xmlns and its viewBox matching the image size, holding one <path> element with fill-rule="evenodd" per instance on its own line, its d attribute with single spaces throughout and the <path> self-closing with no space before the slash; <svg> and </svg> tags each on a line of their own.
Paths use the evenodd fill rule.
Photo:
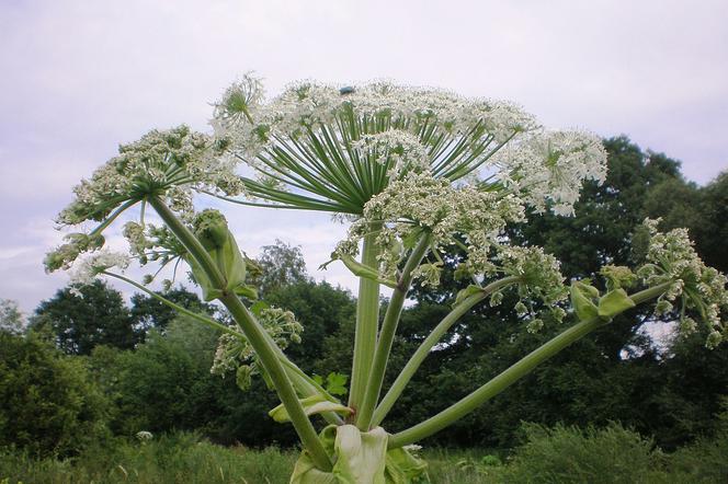
<svg viewBox="0 0 728 484">
<path fill-rule="evenodd" d="M 75 188 L 75 200 L 58 217 L 62 226 L 94 227 L 68 234 L 45 264 L 48 270 L 70 269 L 79 283 L 122 279 L 219 330 L 213 371 L 236 371 L 242 387 L 253 374 L 263 377 L 281 400 L 271 416 L 289 422 L 300 438 L 294 483 L 426 481 L 426 464 L 411 445 L 477 411 L 637 304 L 655 302 L 657 313 L 678 314 L 681 332 L 707 325 L 708 347 L 727 333 L 720 322 L 728 308 L 726 277 L 702 263 L 685 230 L 660 233 L 647 221 L 651 238 L 641 267 L 605 266 L 603 284 L 584 279 L 570 287 L 551 255 L 513 245 L 505 235 L 526 209 L 573 215 L 582 182 L 604 180 L 606 154 L 592 135 L 546 130 L 514 104 L 384 82 L 341 89 L 304 82 L 266 101 L 250 76 L 214 104 L 212 125 L 214 135 L 180 126 L 122 146 Z M 247 280 L 258 268 L 223 214 L 195 207 L 198 195 L 328 211 L 349 223 L 331 262 L 359 278 L 348 401 L 285 355 L 303 326 L 292 313 L 257 301 Z M 129 252 L 104 249 L 104 231 L 137 205 L 138 221 L 123 228 Z M 145 221 L 150 209 L 163 224 Z M 456 270 L 464 288 L 383 395 L 408 291 L 413 284 L 436 286 L 454 250 L 465 254 Z M 132 261 L 159 269 L 183 263 L 205 300 L 224 304 L 235 324 L 149 291 L 153 276 L 138 283 L 122 274 Z M 380 318 L 383 286 L 391 297 Z M 517 295 L 513 311 L 530 332 L 568 313 L 576 323 L 450 407 L 388 434 L 387 414 L 432 348 L 470 309 L 500 304 L 507 291 Z M 312 415 L 322 416 L 326 427 L 317 431 Z"/>
</svg>

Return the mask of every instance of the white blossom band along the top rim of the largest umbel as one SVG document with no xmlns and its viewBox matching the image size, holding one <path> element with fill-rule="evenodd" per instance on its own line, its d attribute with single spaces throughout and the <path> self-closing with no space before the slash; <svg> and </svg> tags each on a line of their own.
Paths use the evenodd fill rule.
<svg viewBox="0 0 728 484">
<path fill-rule="evenodd" d="M 227 134 L 243 146 L 262 148 L 276 137 L 295 138 L 306 129 L 333 125 L 341 115 L 351 115 L 389 126 L 416 123 L 413 131 L 424 124 L 452 134 L 467 135 L 477 125 L 502 142 L 514 131 L 536 127 L 533 116 L 511 103 L 469 100 L 452 92 L 374 82 L 357 87 L 333 87 L 300 82 L 288 87 L 268 104 L 261 104 L 262 89 L 250 80 L 234 84 L 216 103 L 215 119 Z M 247 103 L 236 102 L 241 99 Z M 239 113 L 254 114 L 253 122 Z M 388 129 L 388 127 L 386 128 Z M 253 143 L 251 143 L 253 141 Z"/>
</svg>

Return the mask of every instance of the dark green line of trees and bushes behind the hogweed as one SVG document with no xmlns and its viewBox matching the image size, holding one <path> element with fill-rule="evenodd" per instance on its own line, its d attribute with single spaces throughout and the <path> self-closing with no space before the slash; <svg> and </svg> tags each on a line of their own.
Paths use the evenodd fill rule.
<svg viewBox="0 0 728 484">
<path fill-rule="evenodd" d="M 645 152 L 626 137 L 607 139 L 605 147 L 607 180 L 587 183 L 576 217 L 530 214 L 509 237 L 543 245 L 562 262 L 567 278 L 589 277 L 604 264 L 639 263 L 644 234 L 637 227 L 645 217 L 661 217 L 661 229 L 689 228 L 706 264 L 728 272 L 728 173 L 701 187 L 683 177 L 678 161 Z M 263 247 L 257 263 L 262 272 L 254 284 L 262 299 L 293 311 L 305 326 L 302 342 L 286 353 L 323 381 L 348 374 L 352 296 L 310 279 L 300 251 L 282 242 Z M 457 256 L 445 261 L 445 284 L 411 295 L 386 384 L 447 313 L 463 286 L 458 264 Z M 227 320 L 182 286 L 163 296 Z M 509 307 L 484 304 L 451 330 L 391 412 L 390 431 L 446 407 L 569 324 L 546 322 L 531 334 L 501 309 Z M 211 374 L 218 334 L 150 296 L 137 293 L 127 304 L 98 281 L 60 289 L 22 331 L 12 304 L 4 303 L 1 315 L 0 446 L 64 454 L 114 435 L 172 429 L 198 430 L 220 443 L 295 441 L 288 427 L 268 417 L 276 400 L 262 379 L 242 391 L 235 373 Z M 705 350 L 703 334 L 659 333 L 655 321 L 639 311 L 619 316 L 429 443 L 508 448 L 519 439 L 522 422 L 621 422 L 666 449 L 710 435 L 728 397 L 728 352 Z"/>
</svg>

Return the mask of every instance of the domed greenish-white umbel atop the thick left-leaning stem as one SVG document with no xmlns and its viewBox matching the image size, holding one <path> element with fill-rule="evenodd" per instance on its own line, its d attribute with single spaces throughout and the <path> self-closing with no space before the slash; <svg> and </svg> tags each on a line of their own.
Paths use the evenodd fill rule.
<svg viewBox="0 0 728 484">
<path fill-rule="evenodd" d="M 141 139 L 118 149 L 120 154 L 99 168 L 90 180 L 73 188 L 76 197 L 59 215 L 64 226 L 86 221 L 101 224 L 91 233 L 72 233 L 67 243 L 47 254 L 47 272 L 67 269 L 84 252 L 103 246 L 105 227 L 123 210 L 148 197 L 163 198 L 183 219 L 194 214 L 194 191 L 215 191 L 237 195 L 242 189 L 235 174 L 236 163 L 225 154 L 224 146 L 213 138 L 179 126 L 166 131 L 152 130 Z M 143 260 L 145 229 L 127 224 L 125 235 L 132 254 Z"/>
</svg>

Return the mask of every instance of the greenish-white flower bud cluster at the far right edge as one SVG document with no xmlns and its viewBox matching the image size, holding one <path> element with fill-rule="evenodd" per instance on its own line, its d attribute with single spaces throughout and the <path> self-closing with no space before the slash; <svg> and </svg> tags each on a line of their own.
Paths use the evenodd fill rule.
<svg viewBox="0 0 728 484">
<path fill-rule="evenodd" d="M 682 299 L 681 329 L 695 329 L 695 321 L 686 318 L 684 310 L 696 312 L 709 330 L 706 346 L 715 347 L 728 335 L 728 324 L 720 321 L 721 313 L 728 311 L 728 278 L 703 263 L 686 229 L 662 233 L 657 229 L 658 223 L 659 220 L 645 220 L 650 241 L 647 263 L 637 275 L 650 287 L 670 283 L 657 311 L 668 312 L 675 300 Z"/>
</svg>

